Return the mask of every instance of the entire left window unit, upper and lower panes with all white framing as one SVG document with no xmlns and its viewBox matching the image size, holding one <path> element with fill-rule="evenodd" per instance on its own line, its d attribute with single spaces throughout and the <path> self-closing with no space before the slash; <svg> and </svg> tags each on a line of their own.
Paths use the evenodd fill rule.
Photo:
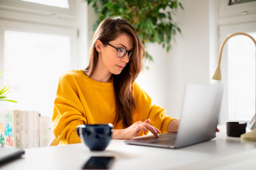
<svg viewBox="0 0 256 170">
<path fill-rule="evenodd" d="M 18 102 L 0 108 L 52 116 L 61 74 L 86 66 L 87 4 L 0 0 L 0 6 L 0 87 L 11 87 L 7 97 Z"/>
</svg>

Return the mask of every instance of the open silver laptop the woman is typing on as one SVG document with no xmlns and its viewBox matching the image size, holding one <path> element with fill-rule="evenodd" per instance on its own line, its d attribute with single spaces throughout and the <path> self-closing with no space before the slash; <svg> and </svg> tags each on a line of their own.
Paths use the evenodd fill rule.
<svg viewBox="0 0 256 170">
<path fill-rule="evenodd" d="M 162 133 L 126 140 L 133 145 L 181 148 L 215 137 L 222 103 L 222 84 L 187 84 L 178 133 Z"/>
</svg>

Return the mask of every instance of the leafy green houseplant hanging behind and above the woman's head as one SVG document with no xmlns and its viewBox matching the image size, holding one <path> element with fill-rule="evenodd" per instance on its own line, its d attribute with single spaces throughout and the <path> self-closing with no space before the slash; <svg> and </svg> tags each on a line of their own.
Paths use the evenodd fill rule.
<svg viewBox="0 0 256 170">
<path fill-rule="evenodd" d="M 177 24 L 173 23 L 172 14 L 178 7 L 183 8 L 178 0 L 85 0 L 92 3 L 99 23 L 107 17 L 121 16 L 137 31 L 139 38 L 146 42 L 162 44 L 168 52 L 171 49 L 171 40 L 177 32 L 181 33 Z M 167 9 L 169 8 L 169 9 Z M 153 60 L 147 53 L 147 59 Z"/>
</svg>

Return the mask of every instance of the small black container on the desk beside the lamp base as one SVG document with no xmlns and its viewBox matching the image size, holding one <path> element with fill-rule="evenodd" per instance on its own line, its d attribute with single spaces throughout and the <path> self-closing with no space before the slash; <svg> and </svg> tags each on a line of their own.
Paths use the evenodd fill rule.
<svg viewBox="0 0 256 170">
<path fill-rule="evenodd" d="M 246 133 L 247 123 L 239 124 L 239 122 L 227 122 L 227 136 L 240 137 Z"/>
</svg>

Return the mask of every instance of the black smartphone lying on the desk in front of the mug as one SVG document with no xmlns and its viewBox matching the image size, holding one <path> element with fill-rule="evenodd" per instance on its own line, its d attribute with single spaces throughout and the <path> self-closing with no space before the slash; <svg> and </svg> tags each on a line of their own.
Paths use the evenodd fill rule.
<svg viewBox="0 0 256 170">
<path fill-rule="evenodd" d="M 92 156 L 82 166 L 82 169 L 109 169 L 113 163 L 114 157 L 96 157 Z"/>
</svg>

